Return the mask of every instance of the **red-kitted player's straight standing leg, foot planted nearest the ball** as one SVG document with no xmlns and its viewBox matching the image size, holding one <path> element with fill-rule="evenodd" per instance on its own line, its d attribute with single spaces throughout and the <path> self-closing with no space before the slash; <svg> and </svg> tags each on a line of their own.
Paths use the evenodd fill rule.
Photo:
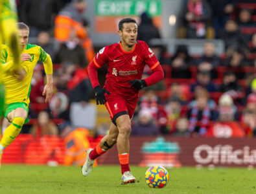
<svg viewBox="0 0 256 194">
<path fill-rule="evenodd" d="M 131 133 L 131 122 L 128 114 L 123 114 L 116 119 L 119 135 L 117 137 L 117 151 L 122 172 L 122 184 L 135 182 L 135 177 L 130 172 L 129 152 Z"/>
</svg>

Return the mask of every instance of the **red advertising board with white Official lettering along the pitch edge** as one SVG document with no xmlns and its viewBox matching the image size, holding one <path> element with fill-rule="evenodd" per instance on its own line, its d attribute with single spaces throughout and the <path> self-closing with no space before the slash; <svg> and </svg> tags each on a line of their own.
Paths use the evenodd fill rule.
<svg viewBox="0 0 256 194">
<path fill-rule="evenodd" d="M 100 138 L 88 138 L 91 147 L 95 147 Z M 2 162 L 4 164 L 71 165 L 72 146 L 76 144 L 71 144 L 69 140 L 58 138 L 58 136 L 34 138 L 32 135 L 19 135 L 5 149 Z M 67 159 L 68 164 L 65 163 Z M 81 158 L 78 159 L 81 160 Z M 76 164 L 75 162 L 77 161 L 74 157 L 73 164 Z M 117 147 L 114 146 L 104 153 L 97 162 L 119 165 Z M 165 167 L 254 166 L 256 165 L 256 141 L 255 138 L 130 137 L 130 164 Z"/>
</svg>

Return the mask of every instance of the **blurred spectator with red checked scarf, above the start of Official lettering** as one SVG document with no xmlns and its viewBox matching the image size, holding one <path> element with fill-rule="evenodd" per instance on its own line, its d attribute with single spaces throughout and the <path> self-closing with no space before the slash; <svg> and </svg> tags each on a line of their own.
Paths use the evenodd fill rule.
<svg viewBox="0 0 256 194">
<path fill-rule="evenodd" d="M 187 118 L 189 119 L 189 131 L 192 135 L 204 135 L 209 126 L 209 122 L 215 119 L 215 111 L 208 105 L 209 93 L 202 90 L 196 96 L 196 104 L 189 109 Z"/>
</svg>

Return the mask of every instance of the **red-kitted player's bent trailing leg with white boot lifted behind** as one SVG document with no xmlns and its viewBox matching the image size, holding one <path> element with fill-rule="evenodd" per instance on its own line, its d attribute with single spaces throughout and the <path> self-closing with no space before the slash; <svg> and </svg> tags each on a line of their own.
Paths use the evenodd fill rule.
<svg viewBox="0 0 256 194">
<path fill-rule="evenodd" d="M 108 149 L 117 142 L 118 133 L 118 128 L 114 124 L 111 124 L 108 135 L 105 135 L 94 149 L 90 148 L 87 150 L 86 162 L 84 162 L 84 165 L 82 166 L 82 174 L 85 177 L 91 173 L 95 159 L 108 151 Z"/>
</svg>

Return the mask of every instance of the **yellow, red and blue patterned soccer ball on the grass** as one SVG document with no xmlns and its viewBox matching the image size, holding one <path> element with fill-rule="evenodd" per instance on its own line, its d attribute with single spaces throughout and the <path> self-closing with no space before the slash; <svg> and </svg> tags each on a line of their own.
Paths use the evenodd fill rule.
<svg viewBox="0 0 256 194">
<path fill-rule="evenodd" d="M 169 173 L 162 166 L 152 166 L 146 171 L 145 178 L 150 188 L 163 188 L 167 185 Z"/>
</svg>

